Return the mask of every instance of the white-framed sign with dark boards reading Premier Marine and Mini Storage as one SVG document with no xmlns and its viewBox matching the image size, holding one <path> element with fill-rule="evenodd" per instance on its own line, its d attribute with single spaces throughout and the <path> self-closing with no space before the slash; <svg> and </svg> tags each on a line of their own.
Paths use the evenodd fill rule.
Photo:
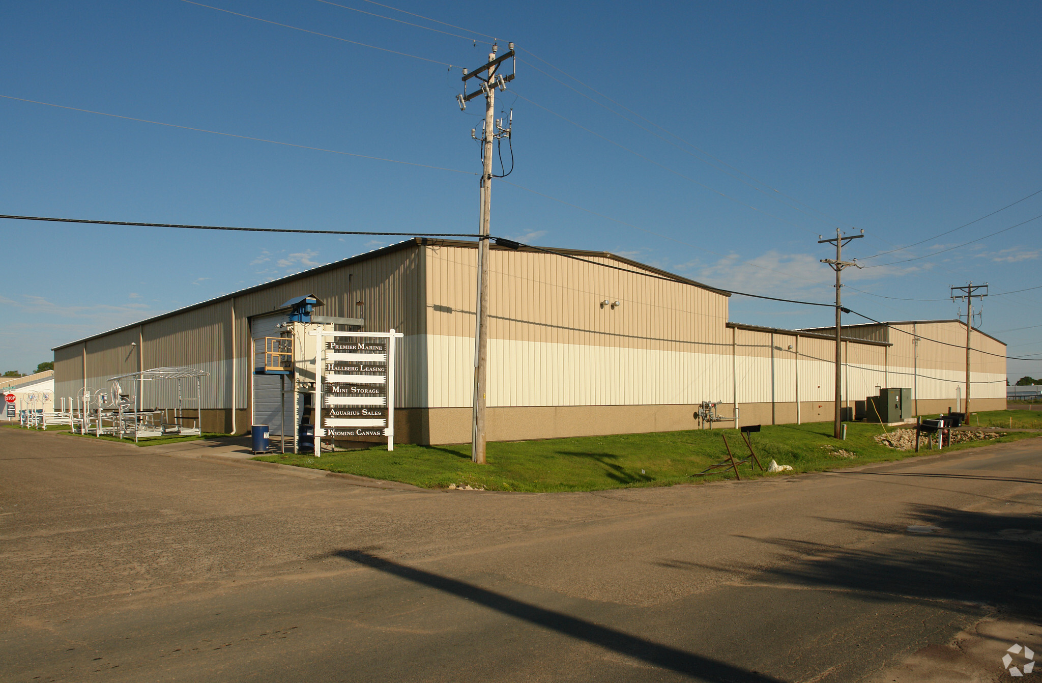
<svg viewBox="0 0 1042 683">
<path fill-rule="evenodd" d="M 395 332 L 315 333 L 315 455 L 322 439 L 386 436 L 394 450 Z"/>
</svg>

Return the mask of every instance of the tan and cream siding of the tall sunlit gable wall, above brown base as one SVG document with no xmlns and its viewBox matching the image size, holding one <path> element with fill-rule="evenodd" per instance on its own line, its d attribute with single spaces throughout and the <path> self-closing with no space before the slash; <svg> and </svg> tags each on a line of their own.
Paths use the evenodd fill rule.
<svg viewBox="0 0 1042 683">
<path fill-rule="evenodd" d="M 426 255 L 427 405 L 470 406 L 477 250 L 426 247 Z M 638 270 L 603 257 L 582 258 Z M 719 398 L 729 393 L 729 368 L 721 362 L 730 351 L 726 298 L 556 254 L 493 248 L 489 406 Z"/>
</svg>

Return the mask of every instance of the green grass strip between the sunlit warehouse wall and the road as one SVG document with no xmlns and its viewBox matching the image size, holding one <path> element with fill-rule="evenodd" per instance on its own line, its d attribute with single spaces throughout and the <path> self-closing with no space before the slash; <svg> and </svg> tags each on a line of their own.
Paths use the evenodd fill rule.
<svg viewBox="0 0 1042 683">
<path fill-rule="evenodd" d="M 997 421 L 990 415 L 982 413 L 982 424 L 985 419 Z M 1018 420 L 1032 422 L 1042 417 L 1031 416 L 1027 411 L 996 411 L 995 415 L 1007 417 L 1007 423 L 1008 417 L 1015 415 L 1014 424 L 1018 424 Z M 752 445 L 765 467 L 773 459 L 779 465 L 791 465 L 795 472 L 900 460 L 915 455 L 877 444 L 872 437 L 882 432 L 879 424 L 848 423 L 846 441 L 837 441 L 832 438 L 832 422 L 765 425 L 762 432 L 752 436 Z M 254 460 L 405 482 L 424 488 L 455 484 L 497 491 L 591 491 L 734 479 L 730 471 L 691 477 L 726 457 L 721 434 L 726 435 L 736 456 L 744 457 L 748 453 L 735 430 L 705 430 L 489 443 L 486 465 L 471 462 L 470 444 L 401 444 L 391 453 L 387 446 L 376 446 L 323 454 L 321 458 L 270 455 Z M 1034 435 L 1009 434 L 997 442 L 1029 436 Z M 956 444 L 950 448 L 994 442 Z M 835 447 L 857 457 L 834 455 L 830 450 Z M 740 471 L 742 479 L 752 475 L 747 465 Z M 762 474 L 758 471 L 755 475 Z"/>
</svg>

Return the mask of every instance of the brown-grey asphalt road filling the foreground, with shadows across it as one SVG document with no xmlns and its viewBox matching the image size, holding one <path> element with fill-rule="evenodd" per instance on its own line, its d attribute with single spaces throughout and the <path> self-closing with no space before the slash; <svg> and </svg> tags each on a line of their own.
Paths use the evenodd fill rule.
<svg viewBox="0 0 1042 683">
<path fill-rule="evenodd" d="M 519 494 L 0 429 L 0 681 L 998 680 L 982 624 L 1042 651 L 1040 507 L 1039 439 Z"/>
</svg>

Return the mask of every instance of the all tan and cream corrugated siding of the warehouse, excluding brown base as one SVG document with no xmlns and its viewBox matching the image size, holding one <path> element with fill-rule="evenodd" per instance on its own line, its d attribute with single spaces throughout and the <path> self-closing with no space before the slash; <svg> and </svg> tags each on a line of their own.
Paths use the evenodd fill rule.
<svg viewBox="0 0 1042 683">
<path fill-rule="evenodd" d="M 196 367 L 210 373 L 203 409 L 246 409 L 253 366 L 249 318 L 314 294 L 324 302 L 321 315 L 364 317 L 366 331 L 393 327 L 405 335 L 398 407 L 469 407 L 476 255 L 476 248 L 458 243 L 406 246 L 91 339 L 85 384 L 107 389 L 108 377 L 142 367 Z M 802 403 L 832 401 L 832 340 L 728 327 L 723 294 L 646 277 L 637 266 L 604 257 L 584 258 L 634 272 L 556 254 L 491 250 L 490 406 L 733 403 L 736 380 L 740 404 L 795 401 L 797 391 Z M 916 376 L 920 397 L 953 395 L 965 370 L 965 327 L 905 326 L 923 338 L 918 351 L 911 335 L 893 331 L 889 349 L 844 343 L 847 400 L 874 394 L 876 386 L 913 386 Z M 868 338 L 882 334 L 862 330 Z M 141 347 L 133 346 L 139 339 Z M 1004 353 L 984 335 L 975 333 L 973 343 Z M 55 351 L 57 395 L 82 388 L 82 349 L 73 344 Z M 973 358 L 973 396 L 1004 396 L 1004 359 Z M 143 403 L 169 408 L 176 390 L 148 383 Z"/>
</svg>

